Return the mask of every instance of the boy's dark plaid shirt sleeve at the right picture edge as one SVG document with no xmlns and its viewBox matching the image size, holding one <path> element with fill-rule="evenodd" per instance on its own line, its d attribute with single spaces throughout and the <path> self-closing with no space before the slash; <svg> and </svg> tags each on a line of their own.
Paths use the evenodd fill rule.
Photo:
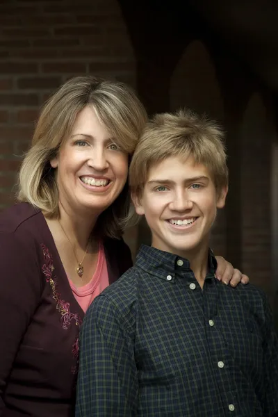
<svg viewBox="0 0 278 417">
<path fill-rule="evenodd" d="M 268 299 L 263 294 L 265 311 L 265 417 L 278 416 L 278 337 Z"/>
</svg>

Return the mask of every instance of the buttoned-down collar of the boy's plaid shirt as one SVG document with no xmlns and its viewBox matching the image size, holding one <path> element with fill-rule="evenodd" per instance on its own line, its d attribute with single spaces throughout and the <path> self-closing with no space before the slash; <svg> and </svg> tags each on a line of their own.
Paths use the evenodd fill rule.
<svg viewBox="0 0 278 417">
<path fill-rule="evenodd" d="M 136 257 L 136 266 L 150 275 L 174 282 L 177 275 L 186 277 L 190 270 L 188 259 L 169 252 L 163 252 L 155 247 L 141 245 Z M 208 274 L 206 278 L 215 277 L 217 261 L 211 249 L 208 250 Z"/>
</svg>

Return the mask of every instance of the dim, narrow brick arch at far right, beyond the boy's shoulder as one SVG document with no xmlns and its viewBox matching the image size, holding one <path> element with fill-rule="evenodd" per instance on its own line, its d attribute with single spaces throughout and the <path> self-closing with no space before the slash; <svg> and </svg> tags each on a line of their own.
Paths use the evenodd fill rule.
<svg viewBox="0 0 278 417">
<path fill-rule="evenodd" d="M 258 93 L 247 104 L 240 137 L 243 270 L 270 294 L 272 135 L 268 111 Z"/>
</svg>

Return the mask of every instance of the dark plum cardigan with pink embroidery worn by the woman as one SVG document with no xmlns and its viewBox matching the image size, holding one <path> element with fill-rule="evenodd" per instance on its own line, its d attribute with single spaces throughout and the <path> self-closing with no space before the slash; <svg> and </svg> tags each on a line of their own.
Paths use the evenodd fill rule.
<svg viewBox="0 0 278 417">
<path fill-rule="evenodd" d="M 131 267 L 123 240 L 104 240 L 111 284 Z M 74 416 L 76 302 L 41 211 L 21 203 L 0 215 L 0 417 Z"/>
</svg>

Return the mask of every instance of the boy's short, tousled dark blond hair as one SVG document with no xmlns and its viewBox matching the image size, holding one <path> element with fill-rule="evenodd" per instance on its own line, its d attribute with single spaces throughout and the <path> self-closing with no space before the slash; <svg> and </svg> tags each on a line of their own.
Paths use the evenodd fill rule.
<svg viewBox="0 0 278 417">
<path fill-rule="evenodd" d="M 149 169 L 165 158 L 193 156 L 205 165 L 213 177 L 217 193 L 228 185 L 228 168 L 223 133 L 215 122 L 195 113 L 180 110 L 161 113 L 150 120 L 133 154 L 129 168 L 129 186 L 140 196 Z"/>
</svg>

